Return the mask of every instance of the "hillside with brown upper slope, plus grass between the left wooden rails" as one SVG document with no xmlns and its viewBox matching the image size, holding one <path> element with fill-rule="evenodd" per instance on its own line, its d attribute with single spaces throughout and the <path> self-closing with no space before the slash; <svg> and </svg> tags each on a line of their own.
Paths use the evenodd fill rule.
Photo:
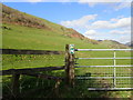
<svg viewBox="0 0 133 100">
<path fill-rule="evenodd" d="M 64 28 L 60 24 L 20 12 L 6 6 L 3 6 L 2 14 L 3 49 L 64 51 L 64 47 L 68 43 L 75 44 L 75 48 L 108 48 L 106 46 L 99 44 L 95 40 L 86 39 L 73 29 Z M 48 58 L 49 61 L 45 60 L 45 58 Z M 10 54 L 3 56 L 2 69 L 63 66 L 63 61 L 64 56 L 16 57 Z"/>
</svg>

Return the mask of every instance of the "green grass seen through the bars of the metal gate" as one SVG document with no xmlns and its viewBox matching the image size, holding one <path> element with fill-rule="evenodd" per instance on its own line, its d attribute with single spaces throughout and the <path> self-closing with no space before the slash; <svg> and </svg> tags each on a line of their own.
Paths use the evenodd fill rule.
<svg viewBox="0 0 133 100">
<path fill-rule="evenodd" d="M 112 51 L 108 51 L 108 52 L 95 52 L 95 51 L 90 51 L 85 54 L 80 54 L 78 53 L 78 58 L 82 57 L 82 58 L 113 58 L 113 52 Z M 119 57 L 131 57 L 131 52 L 125 52 L 125 51 L 117 51 L 116 52 L 116 58 Z M 78 66 L 113 66 L 114 62 L 113 60 L 76 60 L 76 63 L 79 63 Z M 116 66 L 124 66 L 124 64 L 131 64 L 131 60 L 116 60 Z M 116 68 L 116 77 L 133 77 L 132 76 L 132 68 Z M 80 68 L 76 69 L 75 71 L 78 71 L 76 76 L 80 76 L 81 78 L 83 77 L 113 77 L 114 73 L 114 69 L 111 67 L 108 68 Z M 83 77 L 82 77 L 83 76 Z M 90 81 L 90 79 L 85 80 L 85 81 Z M 98 87 L 98 84 L 101 84 L 101 82 L 104 84 L 110 84 L 108 87 L 112 87 L 113 88 L 113 79 L 96 79 L 96 83 L 92 83 L 91 87 Z M 116 87 L 117 88 L 131 88 L 132 87 L 132 81 L 131 79 L 116 79 Z M 105 87 L 104 86 L 100 86 L 100 87 Z"/>
</svg>

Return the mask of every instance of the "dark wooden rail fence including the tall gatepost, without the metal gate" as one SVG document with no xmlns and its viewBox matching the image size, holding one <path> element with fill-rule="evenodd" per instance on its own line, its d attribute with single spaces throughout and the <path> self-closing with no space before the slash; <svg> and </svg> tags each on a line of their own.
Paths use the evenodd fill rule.
<svg viewBox="0 0 133 100">
<path fill-rule="evenodd" d="M 20 82 L 19 82 L 20 76 L 30 76 L 41 79 L 55 80 L 57 81 L 55 93 L 57 93 L 61 81 L 65 81 L 66 86 L 69 87 L 74 86 L 74 54 L 71 54 L 69 50 L 70 47 L 69 44 L 66 44 L 65 64 L 62 67 L 9 69 L 9 70 L 1 70 L 0 76 L 9 76 L 9 74 L 12 76 L 11 90 L 13 98 L 20 97 Z M 0 49 L 0 51 L 2 51 L 2 54 L 64 54 L 64 51 L 50 51 L 50 50 Z M 65 78 L 40 73 L 42 71 L 54 71 L 54 70 L 65 70 Z"/>
</svg>

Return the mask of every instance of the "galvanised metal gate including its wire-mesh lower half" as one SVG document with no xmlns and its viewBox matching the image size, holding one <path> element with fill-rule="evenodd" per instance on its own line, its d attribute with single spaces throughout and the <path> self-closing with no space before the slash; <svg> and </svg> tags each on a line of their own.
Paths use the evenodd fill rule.
<svg viewBox="0 0 133 100">
<path fill-rule="evenodd" d="M 73 46 L 72 46 L 73 47 Z M 92 86 L 94 82 L 89 84 L 89 90 L 133 90 L 133 64 L 120 66 L 116 64 L 116 60 L 133 59 L 132 57 L 116 58 L 116 51 L 133 51 L 133 49 L 74 49 L 74 51 L 113 51 L 113 58 L 75 58 L 76 60 L 91 60 L 91 59 L 103 59 L 113 60 L 113 66 L 75 66 L 75 68 L 91 68 L 92 73 L 89 76 L 78 76 L 75 79 L 85 79 L 89 81 L 99 80 L 101 86 Z M 73 52 L 74 53 L 74 52 Z M 104 76 L 94 76 L 94 69 L 103 69 Z M 106 70 L 104 70 L 106 69 Z M 90 70 L 90 69 L 89 69 Z M 110 72 L 110 71 L 111 72 Z"/>
</svg>

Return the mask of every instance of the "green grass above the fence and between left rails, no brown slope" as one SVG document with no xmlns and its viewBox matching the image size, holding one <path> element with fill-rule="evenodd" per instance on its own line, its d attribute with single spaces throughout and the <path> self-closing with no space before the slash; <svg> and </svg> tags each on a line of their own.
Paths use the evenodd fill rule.
<svg viewBox="0 0 133 100">
<path fill-rule="evenodd" d="M 102 44 L 93 44 L 88 40 L 62 36 L 50 30 L 22 27 L 17 24 L 3 24 L 8 29 L 2 32 L 3 49 L 30 49 L 30 50 L 58 50 L 64 51 L 66 43 L 75 44 L 75 48 L 108 48 Z M 49 59 L 49 61 L 47 60 Z M 54 62 L 53 62 L 54 61 Z M 49 66 L 63 66 L 64 56 L 3 56 L 2 69 L 35 68 Z M 57 62 L 57 63 L 55 63 Z"/>
</svg>

